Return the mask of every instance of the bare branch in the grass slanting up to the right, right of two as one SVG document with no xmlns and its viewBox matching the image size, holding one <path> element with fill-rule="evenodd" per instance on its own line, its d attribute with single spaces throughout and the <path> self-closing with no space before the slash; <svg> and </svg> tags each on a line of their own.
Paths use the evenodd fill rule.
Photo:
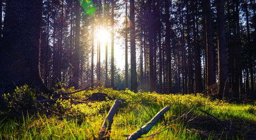
<svg viewBox="0 0 256 140">
<path fill-rule="evenodd" d="M 141 135 L 148 133 L 150 131 L 150 129 L 157 123 L 157 121 L 163 116 L 163 114 L 166 113 L 166 111 L 168 111 L 168 110 L 169 110 L 169 106 L 165 106 L 149 122 L 147 122 L 139 130 L 133 132 L 126 139 L 137 139 L 137 138 L 141 137 Z"/>
</svg>

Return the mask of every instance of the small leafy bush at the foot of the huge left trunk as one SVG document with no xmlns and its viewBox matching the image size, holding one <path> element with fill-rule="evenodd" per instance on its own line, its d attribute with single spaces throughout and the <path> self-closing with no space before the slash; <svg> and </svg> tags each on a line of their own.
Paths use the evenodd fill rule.
<svg viewBox="0 0 256 140">
<path fill-rule="evenodd" d="M 9 110 L 26 110 L 31 107 L 30 103 L 36 100 L 36 92 L 25 84 L 20 88 L 16 87 L 11 94 L 4 94 L 3 97 Z"/>
</svg>

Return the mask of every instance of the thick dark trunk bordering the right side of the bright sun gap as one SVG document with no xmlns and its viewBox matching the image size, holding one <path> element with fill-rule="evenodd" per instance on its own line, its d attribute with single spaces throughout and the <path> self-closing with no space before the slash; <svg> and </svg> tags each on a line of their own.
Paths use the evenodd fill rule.
<svg viewBox="0 0 256 140">
<path fill-rule="evenodd" d="M 136 74 L 136 46 L 135 46 L 135 7 L 134 0 L 130 0 L 130 20 L 131 20 L 131 91 L 138 92 Z"/>
</svg>

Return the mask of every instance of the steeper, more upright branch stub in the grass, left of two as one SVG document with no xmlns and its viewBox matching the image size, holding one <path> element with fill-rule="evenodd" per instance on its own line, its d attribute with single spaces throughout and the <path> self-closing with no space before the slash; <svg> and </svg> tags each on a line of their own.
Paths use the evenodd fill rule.
<svg viewBox="0 0 256 140">
<path fill-rule="evenodd" d="M 113 117 L 116 113 L 116 110 L 118 108 L 120 104 L 120 101 L 119 100 L 115 100 L 114 104 L 112 105 L 112 107 L 110 108 L 109 110 L 109 113 L 108 115 L 105 117 L 101 127 L 100 127 L 100 130 L 98 132 L 98 135 L 99 135 L 99 139 L 108 139 L 109 138 L 109 135 L 110 135 L 110 130 L 111 130 L 111 125 L 113 123 Z"/>
</svg>

